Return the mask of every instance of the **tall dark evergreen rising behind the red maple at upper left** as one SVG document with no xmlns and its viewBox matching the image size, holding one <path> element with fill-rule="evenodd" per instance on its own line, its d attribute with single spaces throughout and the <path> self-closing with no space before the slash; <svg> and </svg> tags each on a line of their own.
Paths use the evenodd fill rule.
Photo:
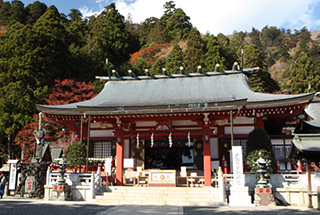
<svg viewBox="0 0 320 215">
<path fill-rule="evenodd" d="M 51 6 L 34 25 L 35 41 L 32 50 L 39 56 L 39 70 L 45 72 L 47 85 L 52 86 L 56 78 L 72 77 L 69 60 L 69 35 L 56 7 Z M 31 36 L 30 36 L 31 37 Z M 32 38 L 32 37 L 31 37 Z"/>
</svg>

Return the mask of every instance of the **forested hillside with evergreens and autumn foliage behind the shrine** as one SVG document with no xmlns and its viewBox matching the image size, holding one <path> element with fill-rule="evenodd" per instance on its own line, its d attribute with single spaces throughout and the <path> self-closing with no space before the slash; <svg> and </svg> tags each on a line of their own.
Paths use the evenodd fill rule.
<svg viewBox="0 0 320 215">
<path fill-rule="evenodd" d="M 144 75 L 147 68 L 161 74 L 164 67 L 174 74 L 181 66 L 193 73 L 199 65 L 204 72 L 213 71 L 216 64 L 220 70 L 231 69 L 234 62 L 240 63 L 243 50 L 244 68 L 260 67 L 249 76 L 254 91 L 320 90 L 318 32 L 307 28 L 292 32 L 265 26 L 232 35 L 203 35 L 173 1 L 163 6 L 160 18 L 132 23 L 115 4 L 97 16 L 83 17 L 76 9 L 66 15 L 39 1 L 24 5 L 0 0 L 0 21 L 6 26 L 0 35 L 0 144 L 10 143 L 35 120 L 36 103 L 54 100 L 57 79 L 94 82 L 98 92 L 101 83 L 95 76 L 108 75 L 106 58 L 110 70 L 122 76 L 128 70 Z"/>
</svg>

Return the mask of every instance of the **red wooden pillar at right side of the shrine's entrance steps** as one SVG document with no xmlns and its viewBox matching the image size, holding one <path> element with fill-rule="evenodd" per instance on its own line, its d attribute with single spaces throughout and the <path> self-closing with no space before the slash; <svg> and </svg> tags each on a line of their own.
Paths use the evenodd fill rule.
<svg viewBox="0 0 320 215">
<path fill-rule="evenodd" d="M 204 186 L 211 186 L 210 129 L 203 130 Z"/>
</svg>

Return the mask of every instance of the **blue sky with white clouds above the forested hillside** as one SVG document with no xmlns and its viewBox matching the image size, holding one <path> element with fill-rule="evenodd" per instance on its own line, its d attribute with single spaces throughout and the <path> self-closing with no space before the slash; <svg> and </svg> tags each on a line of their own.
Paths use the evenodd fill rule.
<svg viewBox="0 0 320 215">
<path fill-rule="evenodd" d="M 6 0 L 5 0 L 6 1 Z M 160 18 L 163 5 L 169 0 L 39 0 L 48 7 L 55 5 L 60 13 L 69 14 L 78 9 L 83 16 L 99 14 L 110 3 L 133 22 L 146 18 Z M 25 7 L 33 0 L 22 0 Z M 251 32 L 252 27 L 262 30 L 266 25 L 277 28 L 320 30 L 319 0 L 174 0 L 191 23 L 205 34 L 232 34 L 233 31 Z"/>
</svg>

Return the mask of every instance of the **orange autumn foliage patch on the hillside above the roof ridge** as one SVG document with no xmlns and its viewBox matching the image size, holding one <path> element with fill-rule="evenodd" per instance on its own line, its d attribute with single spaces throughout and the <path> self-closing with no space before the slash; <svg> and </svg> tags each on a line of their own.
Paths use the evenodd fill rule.
<svg viewBox="0 0 320 215">
<path fill-rule="evenodd" d="M 172 46 L 171 43 L 162 43 L 162 44 L 155 44 L 151 45 L 148 48 L 142 49 L 131 54 L 129 62 L 133 66 L 139 58 L 143 58 L 148 65 L 152 65 L 157 58 L 155 57 L 157 53 L 161 52 L 162 48 L 166 48 Z"/>
</svg>

